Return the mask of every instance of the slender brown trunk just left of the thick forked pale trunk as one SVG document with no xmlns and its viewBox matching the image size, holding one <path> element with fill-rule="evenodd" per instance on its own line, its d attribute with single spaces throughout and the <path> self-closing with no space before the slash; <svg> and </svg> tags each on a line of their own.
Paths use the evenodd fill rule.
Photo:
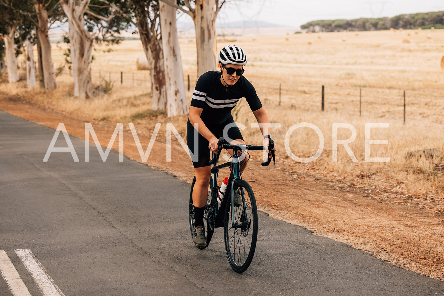
<svg viewBox="0 0 444 296">
<path fill-rule="evenodd" d="M 36 35 L 38 39 L 39 52 L 39 75 L 41 75 L 40 86 L 45 90 L 53 90 L 57 88 L 56 75 L 54 74 L 54 66 L 52 65 L 51 43 L 48 36 L 48 12 L 44 4 L 36 3 L 34 5 L 37 14 L 39 26 L 36 26 Z"/>
</svg>

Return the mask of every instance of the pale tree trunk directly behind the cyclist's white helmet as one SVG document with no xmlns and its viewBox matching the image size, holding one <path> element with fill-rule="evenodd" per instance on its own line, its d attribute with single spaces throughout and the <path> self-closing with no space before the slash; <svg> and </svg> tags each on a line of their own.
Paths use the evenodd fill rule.
<svg viewBox="0 0 444 296">
<path fill-rule="evenodd" d="M 197 46 L 197 77 L 207 71 L 216 70 L 217 39 L 216 39 L 216 3 L 214 0 L 196 0 L 194 29 Z"/>
</svg>

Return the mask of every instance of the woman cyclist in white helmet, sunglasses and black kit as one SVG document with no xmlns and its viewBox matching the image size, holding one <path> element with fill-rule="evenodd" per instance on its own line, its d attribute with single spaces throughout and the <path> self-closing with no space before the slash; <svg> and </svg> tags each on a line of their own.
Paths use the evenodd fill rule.
<svg viewBox="0 0 444 296">
<path fill-rule="evenodd" d="M 193 188 L 194 227 L 193 242 L 198 246 L 206 246 L 203 212 L 206 205 L 211 166 L 210 150 L 218 150 L 218 139 L 230 139 L 230 144 L 245 144 L 239 128 L 231 115 L 231 110 L 239 99 L 245 97 L 251 111 L 259 123 L 264 146 L 268 147 L 270 121 L 253 85 L 244 77 L 243 66 L 247 63 L 244 50 L 236 45 L 228 45 L 219 53 L 219 71 L 209 71 L 199 77 L 191 99 L 190 117 L 186 126 L 186 142 L 193 159 L 196 182 Z M 197 127 L 197 132 L 194 126 Z M 225 134 L 224 134 L 225 129 Z M 194 138 L 195 134 L 198 139 Z M 195 146 L 197 145 L 197 147 Z M 276 147 L 274 147 L 276 150 Z M 233 153 L 232 151 L 230 152 Z M 270 153 L 270 152 L 269 152 Z M 271 157 L 271 156 L 270 156 Z M 241 166 L 245 170 L 246 163 Z M 239 197 L 237 197 L 239 198 Z M 234 200 L 236 204 L 236 196 Z"/>
</svg>

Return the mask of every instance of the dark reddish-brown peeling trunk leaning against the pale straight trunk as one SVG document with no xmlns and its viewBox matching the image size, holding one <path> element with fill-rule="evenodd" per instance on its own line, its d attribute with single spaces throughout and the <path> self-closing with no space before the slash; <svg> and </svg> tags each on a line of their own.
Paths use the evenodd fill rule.
<svg viewBox="0 0 444 296">
<path fill-rule="evenodd" d="M 155 24 L 154 24 L 155 25 Z M 136 16 L 136 26 L 139 30 L 143 50 L 150 66 L 151 101 L 153 110 L 166 110 L 165 64 L 163 59 L 162 37 L 158 39 L 155 26 L 147 22 L 143 13 Z"/>
</svg>

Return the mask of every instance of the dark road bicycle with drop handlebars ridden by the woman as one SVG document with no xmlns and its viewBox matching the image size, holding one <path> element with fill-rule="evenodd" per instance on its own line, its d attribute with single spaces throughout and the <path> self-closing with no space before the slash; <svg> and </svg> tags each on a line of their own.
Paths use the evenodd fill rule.
<svg viewBox="0 0 444 296">
<path fill-rule="evenodd" d="M 219 155 L 222 149 L 233 149 L 233 156 L 229 161 L 221 165 L 216 165 L 219 160 Z M 274 142 L 270 139 L 269 151 L 273 158 L 273 163 L 276 164 L 274 157 Z M 258 237 L 258 211 L 256 209 L 256 200 L 254 198 L 253 189 L 250 184 L 242 180 L 240 166 L 242 155 L 246 157 L 249 155 L 247 150 L 264 150 L 264 146 L 245 145 L 245 144 L 224 144 L 224 138 L 219 138 L 218 152 L 213 153 L 213 159 L 210 160 L 211 176 L 210 176 L 210 190 L 204 210 L 204 223 L 206 222 L 206 246 L 196 246 L 198 249 L 208 248 L 211 237 L 213 236 L 214 228 L 224 228 L 224 241 L 226 257 L 230 262 L 231 268 L 235 272 L 244 272 L 250 266 L 253 260 L 254 251 L 256 249 L 256 241 Z M 249 159 L 249 158 L 248 158 Z M 246 161 L 248 161 L 246 159 Z M 266 162 L 262 162 L 262 166 L 268 166 L 271 158 L 267 158 Z M 245 162 L 243 162 L 245 163 Z M 217 197 L 220 186 L 218 186 L 219 170 L 229 167 L 230 177 L 223 195 L 221 204 L 219 205 Z M 193 187 L 196 182 L 194 176 L 190 191 L 190 231 L 193 237 L 194 230 L 194 208 L 193 208 Z M 236 196 L 237 204 L 234 203 Z"/>
</svg>

